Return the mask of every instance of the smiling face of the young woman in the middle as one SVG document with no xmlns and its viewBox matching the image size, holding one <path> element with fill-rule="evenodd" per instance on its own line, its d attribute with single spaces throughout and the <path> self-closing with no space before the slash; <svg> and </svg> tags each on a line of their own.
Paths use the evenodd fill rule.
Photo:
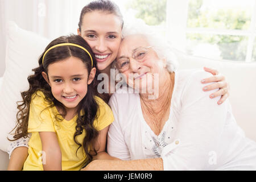
<svg viewBox="0 0 256 182">
<path fill-rule="evenodd" d="M 97 68 L 110 70 L 110 64 L 117 57 L 121 43 L 121 21 L 117 15 L 101 11 L 86 13 L 82 19 L 81 32 L 77 30 L 92 48 L 97 60 Z"/>
</svg>

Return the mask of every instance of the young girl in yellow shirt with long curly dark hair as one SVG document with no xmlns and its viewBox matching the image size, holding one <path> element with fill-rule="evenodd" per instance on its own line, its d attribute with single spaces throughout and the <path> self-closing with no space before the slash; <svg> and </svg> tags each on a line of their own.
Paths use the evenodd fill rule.
<svg viewBox="0 0 256 182">
<path fill-rule="evenodd" d="M 97 94 L 93 52 L 81 36 L 61 36 L 49 43 L 33 71 L 30 88 L 21 93 L 14 135 L 16 140 L 31 133 L 23 170 L 81 169 L 105 152 L 114 119 Z"/>
</svg>

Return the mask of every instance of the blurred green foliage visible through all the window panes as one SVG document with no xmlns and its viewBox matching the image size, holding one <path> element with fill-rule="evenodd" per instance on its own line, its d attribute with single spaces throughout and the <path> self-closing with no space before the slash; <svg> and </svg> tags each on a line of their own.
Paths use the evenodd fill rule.
<svg viewBox="0 0 256 182">
<path fill-rule="evenodd" d="M 143 19 L 149 25 L 163 25 L 166 22 L 167 0 L 133 0 L 127 9 L 137 11 L 136 18 Z M 237 9 L 207 9 L 204 0 L 190 0 L 188 5 L 187 27 L 204 27 L 222 30 L 248 30 L 251 23 L 251 12 Z M 246 57 L 246 36 L 187 34 L 187 39 L 194 44 L 207 43 L 217 45 L 222 59 L 244 61 Z M 256 40 L 255 40 L 256 42 Z M 193 48 L 195 45 L 190 45 Z M 191 50 L 190 50 L 191 51 Z M 189 52 L 189 51 L 188 51 Z M 253 59 L 256 60 L 256 43 Z"/>
</svg>

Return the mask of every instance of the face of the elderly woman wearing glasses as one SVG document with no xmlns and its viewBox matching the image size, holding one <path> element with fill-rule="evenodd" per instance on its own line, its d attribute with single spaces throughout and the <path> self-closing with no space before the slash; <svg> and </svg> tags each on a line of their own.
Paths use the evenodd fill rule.
<svg viewBox="0 0 256 182">
<path fill-rule="evenodd" d="M 165 69 L 165 63 L 145 36 L 130 35 L 121 42 L 115 67 L 126 76 L 127 84 L 141 93 L 142 89 L 158 85 L 159 73 Z"/>
</svg>

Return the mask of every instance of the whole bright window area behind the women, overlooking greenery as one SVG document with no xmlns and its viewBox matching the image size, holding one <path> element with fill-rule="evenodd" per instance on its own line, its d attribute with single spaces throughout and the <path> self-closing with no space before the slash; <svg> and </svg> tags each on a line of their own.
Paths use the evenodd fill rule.
<svg viewBox="0 0 256 182">
<path fill-rule="evenodd" d="M 131 0 L 128 9 L 189 55 L 256 61 L 255 0 Z"/>
</svg>

